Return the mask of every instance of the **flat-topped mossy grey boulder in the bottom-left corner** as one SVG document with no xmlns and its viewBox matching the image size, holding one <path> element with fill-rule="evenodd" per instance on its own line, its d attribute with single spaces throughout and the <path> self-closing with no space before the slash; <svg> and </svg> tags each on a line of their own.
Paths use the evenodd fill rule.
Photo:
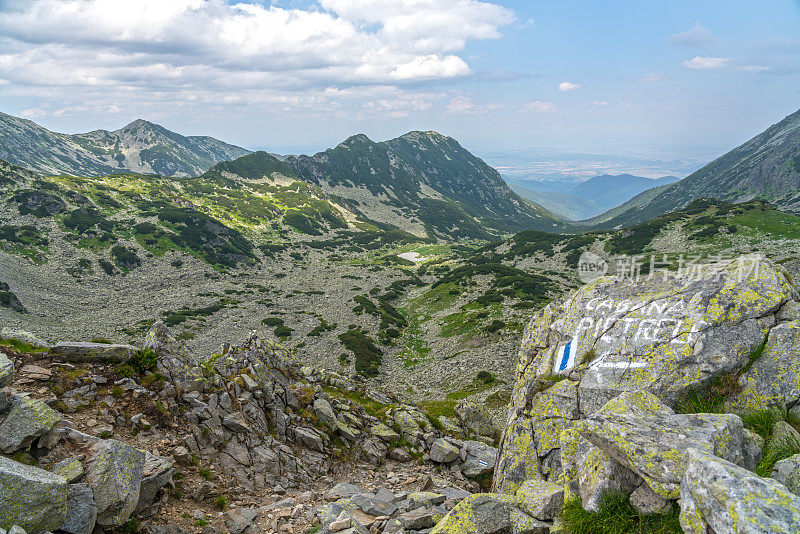
<svg viewBox="0 0 800 534">
<path fill-rule="evenodd" d="M 64 477 L 0 456 L 0 529 L 54 531 L 66 517 Z"/>
</svg>

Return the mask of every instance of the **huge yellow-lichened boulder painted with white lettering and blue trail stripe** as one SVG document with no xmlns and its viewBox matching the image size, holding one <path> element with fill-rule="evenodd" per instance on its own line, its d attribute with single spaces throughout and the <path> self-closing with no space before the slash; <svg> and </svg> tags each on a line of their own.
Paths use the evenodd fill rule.
<svg viewBox="0 0 800 534">
<path fill-rule="evenodd" d="M 556 480 L 561 433 L 620 393 L 648 391 L 675 406 L 747 370 L 752 350 L 785 320 L 782 310 L 797 305 L 797 288 L 783 268 L 763 258 L 694 274 L 599 278 L 532 318 L 520 346 L 495 491 Z M 679 480 L 671 480 L 672 494 Z"/>
</svg>

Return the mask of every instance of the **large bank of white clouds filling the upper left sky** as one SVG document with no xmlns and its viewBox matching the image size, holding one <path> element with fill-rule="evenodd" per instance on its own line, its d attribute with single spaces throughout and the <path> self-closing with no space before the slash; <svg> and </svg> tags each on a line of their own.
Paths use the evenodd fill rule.
<svg viewBox="0 0 800 534">
<path fill-rule="evenodd" d="M 116 112 L 110 106 L 178 99 L 281 109 L 330 104 L 341 96 L 330 89 L 354 87 L 371 88 L 369 102 L 377 103 L 397 96 L 393 87 L 472 74 L 460 55 L 467 43 L 498 38 L 514 20 L 510 10 L 478 0 L 266 4 L 5 0 L 2 91 L 52 99 L 54 109 L 96 98 L 109 113 Z"/>
</svg>

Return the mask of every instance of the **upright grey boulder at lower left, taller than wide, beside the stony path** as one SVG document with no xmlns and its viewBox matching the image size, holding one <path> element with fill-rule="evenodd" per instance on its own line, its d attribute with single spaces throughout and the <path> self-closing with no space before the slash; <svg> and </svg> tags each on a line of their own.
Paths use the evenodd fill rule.
<svg viewBox="0 0 800 534">
<path fill-rule="evenodd" d="M 97 524 L 125 523 L 139 503 L 145 453 L 109 439 L 96 442 L 87 456 L 86 481 L 94 491 Z"/>
</svg>

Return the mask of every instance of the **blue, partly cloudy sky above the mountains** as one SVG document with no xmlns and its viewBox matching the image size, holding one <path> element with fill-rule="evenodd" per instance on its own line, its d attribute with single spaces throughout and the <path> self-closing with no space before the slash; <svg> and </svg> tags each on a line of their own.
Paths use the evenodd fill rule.
<svg viewBox="0 0 800 534">
<path fill-rule="evenodd" d="M 798 108 L 800 0 L 0 0 L 0 110 L 66 133 L 702 159 Z"/>
</svg>

